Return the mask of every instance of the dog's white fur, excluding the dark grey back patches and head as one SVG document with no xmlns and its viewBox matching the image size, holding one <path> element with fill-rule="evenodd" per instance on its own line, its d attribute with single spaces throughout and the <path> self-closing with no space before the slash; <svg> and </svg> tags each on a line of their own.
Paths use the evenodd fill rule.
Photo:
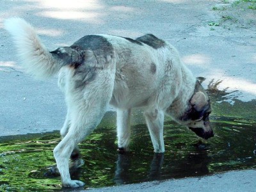
<svg viewBox="0 0 256 192">
<path fill-rule="evenodd" d="M 22 64 L 29 73 L 47 77 L 60 71 L 58 84 L 65 93 L 68 111 L 61 128 L 63 140 L 54 148 L 54 157 L 63 186 L 83 185 L 70 179 L 68 158 L 99 124 L 108 104 L 117 108 L 119 148 L 129 148 L 131 109 L 144 106 L 154 152 L 164 152 L 164 113 L 180 122 L 178 118 L 188 107 L 196 82 L 172 45 L 166 43 L 154 49 L 118 36 L 101 35 L 113 46 L 114 55 L 95 58 L 92 51 L 87 51 L 90 62 L 84 65 L 100 69 L 96 70 L 92 82 L 77 88 L 76 82 L 82 76 L 75 73 L 72 65 L 64 66 L 61 60 L 53 58 L 30 24 L 19 18 L 8 19 L 4 24 L 12 33 Z"/>
</svg>

